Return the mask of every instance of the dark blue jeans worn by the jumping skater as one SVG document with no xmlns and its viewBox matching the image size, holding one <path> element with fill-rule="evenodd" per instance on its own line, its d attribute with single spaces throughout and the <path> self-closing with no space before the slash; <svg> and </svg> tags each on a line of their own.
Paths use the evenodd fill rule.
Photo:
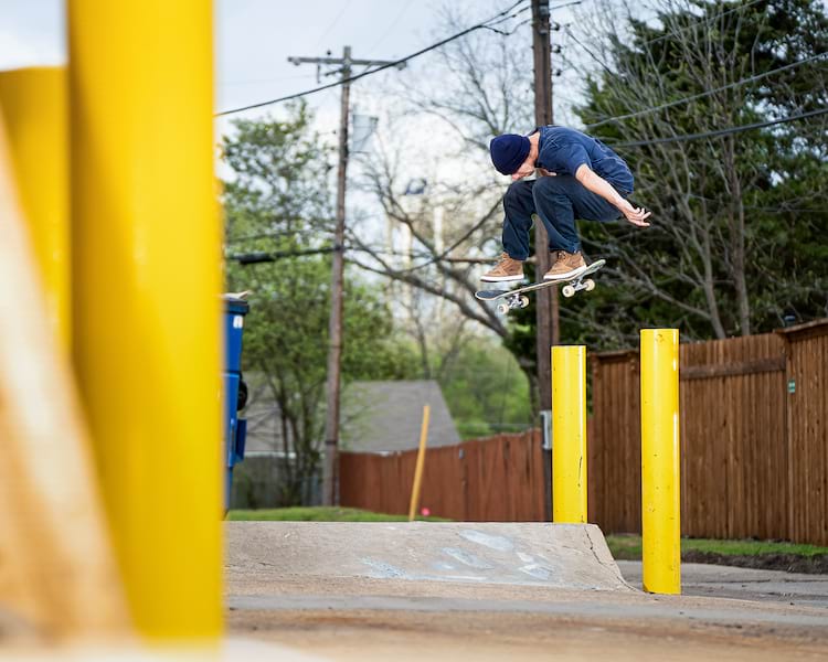
<svg viewBox="0 0 828 662">
<path fill-rule="evenodd" d="M 624 197 L 628 191 L 618 191 Z M 549 235 L 549 249 L 576 253 L 581 237 L 575 220 L 615 221 L 622 213 L 601 195 L 584 188 L 574 177 L 558 174 L 520 180 L 509 186 L 503 196 L 503 250 L 513 259 L 529 257 L 529 231 L 532 214 L 543 221 Z"/>
</svg>

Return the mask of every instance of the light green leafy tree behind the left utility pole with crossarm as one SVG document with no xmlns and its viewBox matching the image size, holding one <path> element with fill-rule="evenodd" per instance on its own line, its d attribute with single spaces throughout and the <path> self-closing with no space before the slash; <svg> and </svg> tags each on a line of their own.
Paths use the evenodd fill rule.
<svg viewBox="0 0 828 662">
<path fill-rule="evenodd" d="M 222 140 L 233 177 L 225 182 L 227 253 L 264 252 L 276 261 L 229 261 L 232 290 L 251 290 L 244 367 L 263 375 L 278 405 L 277 429 L 288 458 L 283 501 L 298 503 L 316 476 L 325 427 L 330 310 L 329 149 L 310 130 L 302 105 L 286 120 L 240 120 Z M 319 250 L 319 254 L 309 252 Z M 326 250 L 328 250 L 326 253 Z M 411 353 L 393 335 L 376 287 L 346 274 L 342 380 L 401 378 Z"/>
</svg>

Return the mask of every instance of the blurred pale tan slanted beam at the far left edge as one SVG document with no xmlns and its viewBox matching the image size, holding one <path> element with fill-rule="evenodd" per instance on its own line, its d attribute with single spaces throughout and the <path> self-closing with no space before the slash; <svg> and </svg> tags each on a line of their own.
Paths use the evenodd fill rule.
<svg viewBox="0 0 828 662">
<path fill-rule="evenodd" d="M 1 110 L 0 609 L 43 641 L 124 637 L 129 617 L 87 430 L 68 353 L 44 323 Z"/>
</svg>

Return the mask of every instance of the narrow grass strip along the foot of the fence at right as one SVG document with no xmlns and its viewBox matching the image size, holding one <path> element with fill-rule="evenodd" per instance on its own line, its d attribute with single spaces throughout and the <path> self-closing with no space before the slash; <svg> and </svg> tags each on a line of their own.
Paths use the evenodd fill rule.
<svg viewBox="0 0 828 662">
<path fill-rule="evenodd" d="M 613 534 L 606 536 L 607 545 L 616 559 L 641 560 L 641 536 Z M 681 553 L 703 552 L 722 556 L 761 556 L 786 554 L 809 558 L 828 554 L 828 547 L 799 545 L 773 541 L 718 541 L 710 538 L 681 538 Z"/>
</svg>

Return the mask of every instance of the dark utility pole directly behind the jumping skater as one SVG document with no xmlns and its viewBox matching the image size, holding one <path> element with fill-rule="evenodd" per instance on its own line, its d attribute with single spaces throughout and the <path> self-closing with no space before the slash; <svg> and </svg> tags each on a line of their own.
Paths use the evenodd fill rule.
<svg viewBox="0 0 828 662">
<path fill-rule="evenodd" d="M 552 124 L 552 52 L 550 44 L 549 0 L 532 0 L 532 51 L 534 53 L 534 124 Z M 534 224 L 534 253 L 538 258 L 537 278 L 541 279 L 552 266 L 549 241 L 543 223 Z M 561 334 L 558 316 L 558 288 L 538 290 L 538 391 L 541 412 L 552 407 L 552 345 L 559 344 Z M 541 416 L 542 425 L 546 417 Z M 545 434 L 542 435 L 545 438 Z M 546 522 L 552 521 L 552 449 L 543 451 L 544 510 Z"/>
</svg>

